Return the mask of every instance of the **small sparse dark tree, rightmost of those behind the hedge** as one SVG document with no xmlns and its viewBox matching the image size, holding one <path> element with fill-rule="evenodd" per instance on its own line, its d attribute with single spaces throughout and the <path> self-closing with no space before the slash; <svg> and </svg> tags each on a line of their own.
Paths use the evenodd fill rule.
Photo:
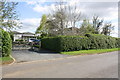
<svg viewBox="0 0 120 80">
<path fill-rule="evenodd" d="M 102 28 L 101 34 L 109 36 L 113 29 L 114 29 L 114 26 L 112 26 L 111 23 L 105 23 L 104 27 Z"/>
</svg>

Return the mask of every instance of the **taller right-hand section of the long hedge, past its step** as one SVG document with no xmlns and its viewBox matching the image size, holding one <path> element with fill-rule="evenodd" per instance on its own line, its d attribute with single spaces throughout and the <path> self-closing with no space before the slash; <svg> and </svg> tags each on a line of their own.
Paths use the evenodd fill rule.
<svg viewBox="0 0 120 80">
<path fill-rule="evenodd" d="M 90 49 L 116 48 L 116 39 L 111 36 L 101 34 L 86 34 L 91 42 Z"/>
</svg>

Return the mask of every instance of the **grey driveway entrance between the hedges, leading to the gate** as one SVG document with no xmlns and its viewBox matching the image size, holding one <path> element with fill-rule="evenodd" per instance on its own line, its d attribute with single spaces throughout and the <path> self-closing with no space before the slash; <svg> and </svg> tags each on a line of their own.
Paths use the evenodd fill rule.
<svg viewBox="0 0 120 80">
<path fill-rule="evenodd" d="M 16 63 L 20 63 L 20 62 L 28 62 L 35 60 L 49 60 L 55 58 L 63 58 L 63 57 L 68 57 L 69 55 L 53 53 L 45 50 L 41 50 L 39 53 L 29 50 L 20 50 L 20 51 L 12 51 L 12 56 L 16 59 Z"/>
</svg>

